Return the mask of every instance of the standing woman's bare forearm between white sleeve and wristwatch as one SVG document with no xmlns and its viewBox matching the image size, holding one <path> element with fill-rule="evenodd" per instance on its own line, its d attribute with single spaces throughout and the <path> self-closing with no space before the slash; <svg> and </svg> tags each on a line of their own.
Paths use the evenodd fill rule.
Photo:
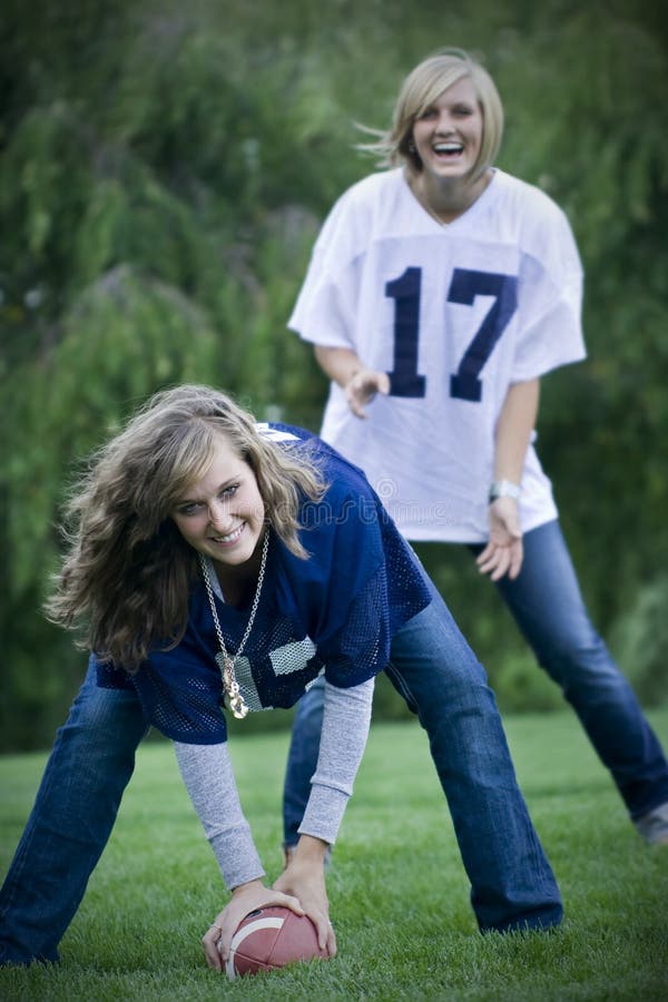
<svg viewBox="0 0 668 1002">
<path fill-rule="evenodd" d="M 519 484 L 527 450 L 538 416 L 540 381 L 529 380 L 510 386 L 497 422 L 494 435 L 495 481 Z"/>
</svg>

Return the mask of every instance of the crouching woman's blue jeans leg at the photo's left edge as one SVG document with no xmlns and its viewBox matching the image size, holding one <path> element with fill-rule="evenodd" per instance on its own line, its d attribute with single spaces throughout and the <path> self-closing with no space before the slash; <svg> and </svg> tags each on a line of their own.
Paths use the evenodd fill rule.
<svg viewBox="0 0 668 1002">
<path fill-rule="evenodd" d="M 89 667 L 0 891 L 0 963 L 58 960 L 146 729 L 135 692 L 99 689 Z"/>
</svg>

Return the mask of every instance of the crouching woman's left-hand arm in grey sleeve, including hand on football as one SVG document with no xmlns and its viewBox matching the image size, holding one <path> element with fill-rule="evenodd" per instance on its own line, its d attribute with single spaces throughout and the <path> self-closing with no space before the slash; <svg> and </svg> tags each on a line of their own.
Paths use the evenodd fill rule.
<svg viewBox="0 0 668 1002">
<path fill-rule="evenodd" d="M 264 870 L 250 836 L 232 770 L 227 744 L 187 745 L 175 741 L 178 766 L 214 851 L 223 880 L 232 890 L 227 906 L 203 939 L 210 967 L 222 970 L 237 925 L 248 912 L 285 905 L 304 914 L 291 895 L 265 887 Z"/>
</svg>

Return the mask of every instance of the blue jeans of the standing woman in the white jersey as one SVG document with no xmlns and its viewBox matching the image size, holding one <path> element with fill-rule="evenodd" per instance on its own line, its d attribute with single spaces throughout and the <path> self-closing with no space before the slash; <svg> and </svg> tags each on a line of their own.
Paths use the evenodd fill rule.
<svg viewBox="0 0 668 1002">
<path fill-rule="evenodd" d="M 471 549 L 478 553 L 482 547 Z M 497 588 L 540 665 L 561 687 L 576 710 L 601 760 L 610 769 L 630 816 L 637 818 L 668 802 L 668 765 L 661 746 L 631 687 L 589 621 L 558 521 L 548 522 L 524 536 L 524 562 L 520 576 L 514 581 L 502 579 Z M 394 658 L 393 646 L 393 662 Z M 389 675 L 395 681 L 392 666 Z M 404 695 L 401 686 L 396 688 Z M 433 704 L 438 699 L 429 685 L 424 699 Z M 284 792 L 286 845 L 297 839 L 311 776 L 315 772 L 322 700 L 322 688 L 310 690 L 299 701 L 293 725 Z M 431 739 L 420 699 L 414 701 Z M 456 726 L 456 721 L 448 723 L 452 708 L 444 700 L 430 708 L 442 717 L 445 726 Z M 450 763 L 448 759 L 439 762 L 433 739 L 432 754 L 450 797 L 442 775 L 446 774 Z M 458 838 L 463 855 L 459 829 Z"/>
</svg>

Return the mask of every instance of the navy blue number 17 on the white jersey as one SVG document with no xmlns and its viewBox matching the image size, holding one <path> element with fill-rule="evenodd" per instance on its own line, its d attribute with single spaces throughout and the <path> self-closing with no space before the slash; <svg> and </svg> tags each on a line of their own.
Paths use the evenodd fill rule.
<svg viewBox="0 0 668 1002">
<path fill-rule="evenodd" d="M 387 373 L 393 396 L 425 395 L 426 377 L 418 373 L 421 285 L 421 268 L 406 268 L 385 285 L 385 295 L 396 303 L 394 369 Z M 448 302 L 472 306 L 477 296 L 493 296 L 494 303 L 464 352 L 456 373 L 450 376 L 450 395 L 473 402 L 482 399 L 482 367 L 518 308 L 518 279 L 514 275 L 454 268 Z"/>
</svg>

